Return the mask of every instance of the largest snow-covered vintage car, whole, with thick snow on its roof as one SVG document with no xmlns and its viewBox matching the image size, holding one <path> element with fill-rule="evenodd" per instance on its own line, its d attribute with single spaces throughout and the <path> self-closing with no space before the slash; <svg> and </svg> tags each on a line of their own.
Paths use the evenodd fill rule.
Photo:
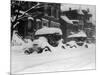
<svg viewBox="0 0 100 75">
<path fill-rule="evenodd" d="M 25 53 L 42 53 L 45 51 L 51 51 L 52 47 L 57 47 L 59 40 L 61 39 L 62 31 L 59 28 L 44 27 L 35 32 L 35 40 L 33 41 L 32 48 L 26 50 Z"/>
</svg>

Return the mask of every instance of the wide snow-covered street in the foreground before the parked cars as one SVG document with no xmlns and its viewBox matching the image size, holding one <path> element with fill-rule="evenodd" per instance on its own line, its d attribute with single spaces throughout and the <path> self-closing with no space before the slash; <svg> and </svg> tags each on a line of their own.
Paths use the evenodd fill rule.
<svg viewBox="0 0 100 75">
<path fill-rule="evenodd" d="M 55 49 L 31 55 L 13 50 L 11 64 L 14 74 L 95 69 L 95 47 Z"/>
</svg>

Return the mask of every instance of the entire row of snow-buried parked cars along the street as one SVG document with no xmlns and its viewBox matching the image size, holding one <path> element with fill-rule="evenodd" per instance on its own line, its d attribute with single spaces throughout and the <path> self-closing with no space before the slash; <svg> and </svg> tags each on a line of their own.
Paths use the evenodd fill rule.
<svg viewBox="0 0 100 75">
<path fill-rule="evenodd" d="M 69 36 L 72 40 L 63 43 L 62 32 L 58 28 L 47 28 L 39 29 L 35 33 L 35 40 L 31 43 L 31 47 L 27 47 L 24 49 L 25 54 L 31 54 L 33 52 L 42 53 L 43 51 L 52 52 L 52 48 L 60 47 L 61 49 L 67 50 L 67 48 L 78 48 L 85 47 L 88 48 L 88 44 L 86 42 L 86 35 L 82 34 L 74 34 Z M 74 40 L 73 40 L 74 39 Z"/>
</svg>

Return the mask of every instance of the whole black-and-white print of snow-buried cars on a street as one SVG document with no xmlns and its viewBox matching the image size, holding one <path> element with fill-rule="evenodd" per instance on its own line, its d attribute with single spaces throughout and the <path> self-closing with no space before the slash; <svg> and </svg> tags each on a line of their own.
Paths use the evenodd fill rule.
<svg viewBox="0 0 100 75">
<path fill-rule="evenodd" d="M 96 69 L 96 6 L 11 0 L 11 74 Z"/>
</svg>

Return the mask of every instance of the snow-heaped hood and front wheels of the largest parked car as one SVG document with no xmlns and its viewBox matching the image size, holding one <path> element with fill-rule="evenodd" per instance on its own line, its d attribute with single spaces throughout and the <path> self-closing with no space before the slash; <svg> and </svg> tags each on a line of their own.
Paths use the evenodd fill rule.
<svg viewBox="0 0 100 75">
<path fill-rule="evenodd" d="M 33 42 L 31 42 L 29 46 L 27 44 L 24 53 L 32 54 L 33 52 L 42 53 L 43 50 L 51 51 L 49 47 L 50 45 L 45 37 L 38 37 L 38 39 L 35 39 Z"/>
</svg>

